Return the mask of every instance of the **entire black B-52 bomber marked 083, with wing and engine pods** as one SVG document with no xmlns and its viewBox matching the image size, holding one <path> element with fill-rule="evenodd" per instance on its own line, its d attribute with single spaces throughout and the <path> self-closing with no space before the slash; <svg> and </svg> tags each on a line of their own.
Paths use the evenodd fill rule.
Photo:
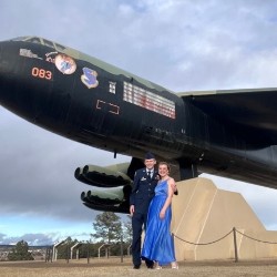
<svg viewBox="0 0 277 277">
<path fill-rule="evenodd" d="M 277 89 L 174 93 L 71 48 L 21 37 L 0 42 L 0 104 L 70 140 L 132 157 L 75 170 L 92 186 L 81 199 L 93 209 L 127 213 L 147 151 L 172 164 L 176 181 L 208 173 L 277 188 Z"/>
</svg>

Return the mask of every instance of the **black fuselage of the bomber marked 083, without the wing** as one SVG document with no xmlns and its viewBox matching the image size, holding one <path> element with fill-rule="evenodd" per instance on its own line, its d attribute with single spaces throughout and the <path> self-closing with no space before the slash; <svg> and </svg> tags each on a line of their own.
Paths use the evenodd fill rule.
<svg viewBox="0 0 277 277">
<path fill-rule="evenodd" d="M 35 41 L 38 40 L 38 41 Z M 52 43 L 52 44 L 51 44 Z M 276 164 L 170 90 L 47 40 L 0 43 L 0 103 L 51 132 L 101 150 L 275 187 Z M 267 179 L 265 179 L 265 177 Z"/>
</svg>

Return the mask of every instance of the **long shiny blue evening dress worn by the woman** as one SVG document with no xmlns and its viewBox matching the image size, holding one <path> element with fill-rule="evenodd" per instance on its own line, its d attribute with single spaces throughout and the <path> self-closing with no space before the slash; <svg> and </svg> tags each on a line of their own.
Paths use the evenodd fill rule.
<svg viewBox="0 0 277 277">
<path fill-rule="evenodd" d="M 147 227 L 144 238 L 142 258 L 158 261 L 160 266 L 175 261 L 173 237 L 171 235 L 172 206 L 160 218 L 160 212 L 167 197 L 167 181 L 161 181 L 155 188 L 155 196 L 148 208 Z"/>
</svg>

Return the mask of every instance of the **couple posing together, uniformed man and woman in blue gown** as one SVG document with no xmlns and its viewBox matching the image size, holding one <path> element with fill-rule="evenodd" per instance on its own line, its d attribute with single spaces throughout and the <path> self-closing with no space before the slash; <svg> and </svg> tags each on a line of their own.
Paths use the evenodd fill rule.
<svg viewBox="0 0 277 277">
<path fill-rule="evenodd" d="M 147 268 L 161 269 L 171 264 L 177 269 L 174 243 L 171 235 L 172 197 L 177 191 L 175 181 L 170 177 L 170 166 L 165 162 L 154 168 L 156 160 L 152 153 L 146 153 L 145 167 L 136 171 L 133 191 L 130 197 L 130 214 L 132 216 L 132 255 L 134 269 L 141 267 L 144 259 Z M 141 249 L 142 229 L 145 238 Z"/>
</svg>

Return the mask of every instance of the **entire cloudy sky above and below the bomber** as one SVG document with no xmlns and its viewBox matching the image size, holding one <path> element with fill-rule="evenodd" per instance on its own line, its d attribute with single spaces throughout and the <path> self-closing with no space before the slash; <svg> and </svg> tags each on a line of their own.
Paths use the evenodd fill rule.
<svg viewBox="0 0 277 277">
<path fill-rule="evenodd" d="M 275 0 L 0 0 L 0 41 L 43 37 L 176 92 L 276 88 L 276 10 Z M 126 161 L 0 106 L 0 244 L 89 239 L 98 212 L 81 204 L 89 187 L 74 171 Z M 277 229 L 277 191 L 208 177 Z"/>
</svg>

